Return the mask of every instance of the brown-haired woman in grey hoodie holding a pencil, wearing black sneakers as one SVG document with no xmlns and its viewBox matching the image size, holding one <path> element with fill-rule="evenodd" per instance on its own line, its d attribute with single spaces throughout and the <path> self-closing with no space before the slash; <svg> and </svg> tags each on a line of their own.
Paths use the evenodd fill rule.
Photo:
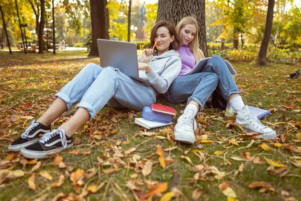
<svg viewBox="0 0 301 201">
<path fill-rule="evenodd" d="M 20 151 L 27 158 L 46 158 L 73 145 L 72 136 L 108 103 L 113 108 L 141 111 L 156 103 L 156 96 L 165 93 L 181 70 L 180 47 L 175 25 L 158 22 L 150 34 L 150 46 L 155 42 L 156 55 L 144 50 L 139 58 L 139 77 L 146 85 L 116 70 L 118 66 L 102 68 L 88 64 L 57 94 L 50 108 L 32 121 L 22 135 L 9 146 L 9 151 Z M 113 54 L 113 53 L 112 53 Z M 76 113 L 58 129 L 50 124 L 77 104 Z M 42 135 L 42 137 L 40 137 Z"/>
</svg>

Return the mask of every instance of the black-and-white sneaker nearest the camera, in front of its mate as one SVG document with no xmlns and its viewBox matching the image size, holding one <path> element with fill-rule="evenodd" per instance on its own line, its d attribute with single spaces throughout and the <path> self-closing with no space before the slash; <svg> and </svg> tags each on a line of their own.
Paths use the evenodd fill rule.
<svg viewBox="0 0 301 201">
<path fill-rule="evenodd" d="M 62 129 L 55 129 L 45 133 L 35 144 L 22 148 L 21 154 L 26 158 L 47 158 L 48 154 L 61 152 L 72 145 L 72 137 L 67 137 Z"/>
</svg>

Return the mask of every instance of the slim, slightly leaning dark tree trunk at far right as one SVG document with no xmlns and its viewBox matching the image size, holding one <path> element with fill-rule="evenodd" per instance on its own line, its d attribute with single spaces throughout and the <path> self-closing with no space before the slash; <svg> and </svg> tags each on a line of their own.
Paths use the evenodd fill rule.
<svg viewBox="0 0 301 201">
<path fill-rule="evenodd" d="M 268 0 L 265 30 L 264 30 L 263 39 L 261 41 L 259 53 L 257 56 L 257 64 L 261 66 L 265 65 L 267 61 L 266 52 L 272 33 L 274 5 L 275 5 L 275 0 Z"/>
</svg>

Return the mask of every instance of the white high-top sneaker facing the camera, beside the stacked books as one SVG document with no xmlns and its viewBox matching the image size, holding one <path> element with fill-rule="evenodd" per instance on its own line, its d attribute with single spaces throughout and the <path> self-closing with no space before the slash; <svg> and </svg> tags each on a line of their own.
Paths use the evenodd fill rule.
<svg viewBox="0 0 301 201">
<path fill-rule="evenodd" d="M 196 129 L 196 120 L 189 113 L 183 114 L 179 117 L 178 123 L 175 126 L 175 140 L 187 144 L 194 144 L 196 140 L 194 130 Z"/>
</svg>

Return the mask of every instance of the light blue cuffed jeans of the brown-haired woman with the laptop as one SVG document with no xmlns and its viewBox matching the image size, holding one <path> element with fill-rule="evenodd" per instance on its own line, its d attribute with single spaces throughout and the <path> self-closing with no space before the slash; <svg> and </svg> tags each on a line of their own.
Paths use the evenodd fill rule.
<svg viewBox="0 0 301 201">
<path fill-rule="evenodd" d="M 156 103 L 156 95 L 151 86 L 142 84 L 112 67 L 102 68 L 88 64 L 56 97 L 63 99 L 70 110 L 85 108 L 90 120 L 106 105 L 116 109 L 142 111 L 143 107 Z"/>
</svg>

